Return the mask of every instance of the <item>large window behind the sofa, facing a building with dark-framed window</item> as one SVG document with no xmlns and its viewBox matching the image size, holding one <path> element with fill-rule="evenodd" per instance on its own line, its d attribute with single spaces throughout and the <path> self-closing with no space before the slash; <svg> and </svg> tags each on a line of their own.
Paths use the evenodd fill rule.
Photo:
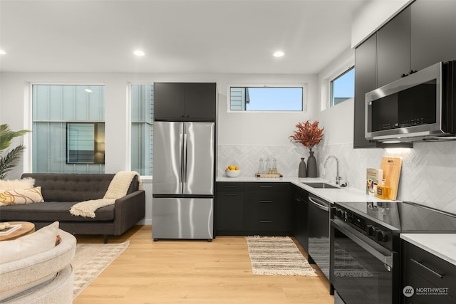
<svg viewBox="0 0 456 304">
<path fill-rule="evenodd" d="M 105 172 L 104 85 L 33 85 L 32 120 L 32 172 Z"/>
</svg>

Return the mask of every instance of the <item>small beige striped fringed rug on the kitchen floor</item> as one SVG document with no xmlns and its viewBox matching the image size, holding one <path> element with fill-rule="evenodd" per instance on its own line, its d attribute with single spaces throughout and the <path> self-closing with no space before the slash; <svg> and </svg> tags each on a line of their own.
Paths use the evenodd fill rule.
<svg viewBox="0 0 456 304">
<path fill-rule="evenodd" d="M 317 276 L 289 236 L 247 236 L 252 273 L 266 276 Z"/>
</svg>

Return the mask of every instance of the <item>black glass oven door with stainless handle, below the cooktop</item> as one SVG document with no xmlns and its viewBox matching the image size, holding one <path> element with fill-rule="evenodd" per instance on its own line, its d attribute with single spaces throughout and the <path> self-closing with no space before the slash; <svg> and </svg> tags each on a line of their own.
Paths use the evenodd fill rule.
<svg viewBox="0 0 456 304">
<path fill-rule="evenodd" d="M 330 251 L 331 286 L 344 303 L 398 303 L 398 254 L 339 219 L 331 219 Z"/>
</svg>

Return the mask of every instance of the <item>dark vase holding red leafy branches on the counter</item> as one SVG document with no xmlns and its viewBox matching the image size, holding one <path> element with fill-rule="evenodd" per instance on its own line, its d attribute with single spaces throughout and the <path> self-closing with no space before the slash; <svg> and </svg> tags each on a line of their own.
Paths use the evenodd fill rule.
<svg viewBox="0 0 456 304">
<path fill-rule="evenodd" d="M 318 120 L 310 122 L 299 122 L 296 125 L 294 134 L 290 136 L 291 142 L 304 145 L 309 149 L 309 158 L 307 159 L 307 177 L 317 177 L 316 158 L 312 149 L 323 139 L 324 127 L 318 127 Z"/>
</svg>

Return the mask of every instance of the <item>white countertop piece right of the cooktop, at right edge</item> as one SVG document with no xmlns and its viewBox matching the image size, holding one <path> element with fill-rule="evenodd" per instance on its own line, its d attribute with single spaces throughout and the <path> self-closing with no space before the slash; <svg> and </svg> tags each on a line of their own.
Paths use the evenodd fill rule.
<svg viewBox="0 0 456 304">
<path fill-rule="evenodd" d="M 456 266 L 456 234 L 400 234 L 400 239 Z"/>
</svg>

